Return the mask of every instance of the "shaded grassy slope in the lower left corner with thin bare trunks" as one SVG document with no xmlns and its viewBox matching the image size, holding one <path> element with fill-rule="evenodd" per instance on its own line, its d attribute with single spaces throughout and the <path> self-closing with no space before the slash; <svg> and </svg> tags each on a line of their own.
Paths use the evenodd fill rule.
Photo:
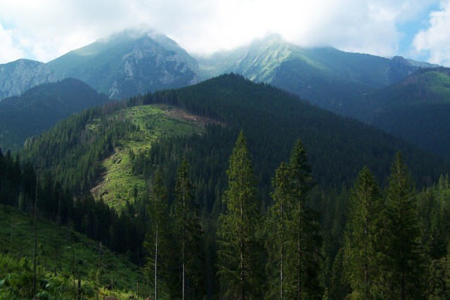
<svg viewBox="0 0 450 300">
<path fill-rule="evenodd" d="M 75 261 L 81 273 L 83 285 L 94 286 L 93 282 L 89 280 L 89 276 L 98 270 L 98 242 L 89 240 L 84 235 L 68 228 L 58 227 L 53 223 L 44 221 L 38 222 L 37 240 L 38 249 L 41 249 L 41 252 L 38 252 L 37 262 L 41 267 L 40 273 L 45 272 L 47 274 L 46 278 L 49 278 L 51 276 L 49 274 L 53 274 L 56 268 L 58 275 L 67 276 L 69 282 L 72 282 L 71 268 L 73 254 L 75 253 Z M 143 275 L 139 268 L 130 263 L 127 258 L 117 256 L 105 247 L 103 249 L 105 251 L 101 261 L 104 271 L 100 281 L 101 287 L 107 285 L 113 278 L 117 291 L 109 292 L 101 289 L 101 294 L 113 294 L 120 299 L 127 299 L 127 295 L 131 292 L 120 292 L 119 290 L 132 291 L 136 282 L 143 279 Z M 32 268 L 33 252 L 34 229 L 32 217 L 17 209 L 0 205 L 1 257 L 5 258 L 6 253 L 13 260 L 27 257 Z M 0 264 L 0 280 L 6 274 L 14 273 L 14 271 L 14 263 Z"/>
</svg>

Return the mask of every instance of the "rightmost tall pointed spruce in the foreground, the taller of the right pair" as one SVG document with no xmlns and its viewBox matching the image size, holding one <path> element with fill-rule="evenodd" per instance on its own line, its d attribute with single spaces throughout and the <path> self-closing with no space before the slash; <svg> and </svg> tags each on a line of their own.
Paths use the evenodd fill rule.
<svg viewBox="0 0 450 300">
<path fill-rule="evenodd" d="M 394 299 L 423 295 L 425 258 L 420 243 L 416 193 L 406 165 L 398 152 L 387 188 L 386 254 L 390 270 L 387 293 Z"/>
</svg>

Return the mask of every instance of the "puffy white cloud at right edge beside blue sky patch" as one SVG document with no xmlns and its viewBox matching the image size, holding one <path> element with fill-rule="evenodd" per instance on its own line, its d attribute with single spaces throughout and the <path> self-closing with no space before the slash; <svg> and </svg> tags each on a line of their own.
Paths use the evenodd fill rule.
<svg viewBox="0 0 450 300">
<path fill-rule="evenodd" d="M 430 63 L 450 67 L 450 1 L 441 1 L 439 11 L 430 13 L 430 26 L 414 37 L 418 53 L 428 53 Z"/>
</svg>

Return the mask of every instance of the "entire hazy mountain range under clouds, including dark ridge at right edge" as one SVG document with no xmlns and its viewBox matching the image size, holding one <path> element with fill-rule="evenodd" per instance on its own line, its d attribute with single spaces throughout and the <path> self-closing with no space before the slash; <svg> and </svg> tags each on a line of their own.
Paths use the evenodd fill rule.
<svg viewBox="0 0 450 300">
<path fill-rule="evenodd" d="M 422 75 L 416 76 L 418 71 Z M 127 98 L 230 72 L 285 89 L 311 104 L 354 117 L 450 158 L 446 151 L 450 141 L 441 134 L 450 129 L 445 115 L 449 110 L 445 68 L 400 56 L 382 58 L 332 47 L 302 48 L 278 35 L 233 51 L 194 58 L 162 34 L 126 30 L 49 63 L 18 60 L 0 65 L 0 99 L 67 77 L 80 79 L 109 98 Z M 440 78 L 432 89 L 426 74 Z M 412 83 L 421 94 L 406 87 Z M 414 100 L 428 96 L 444 100 L 420 105 Z"/>
</svg>

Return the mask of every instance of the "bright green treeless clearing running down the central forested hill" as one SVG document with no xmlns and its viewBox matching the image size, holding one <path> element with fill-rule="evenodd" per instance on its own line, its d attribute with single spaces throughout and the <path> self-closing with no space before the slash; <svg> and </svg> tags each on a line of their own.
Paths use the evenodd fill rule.
<svg viewBox="0 0 450 300">
<path fill-rule="evenodd" d="M 181 136 L 203 131 L 203 121 L 167 105 L 141 105 L 121 111 L 124 117 L 139 125 L 139 132 L 127 136 L 115 148 L 115 154 L 102 162 L 105 172 L 92 189 L 96 197 L 103 197 L 113 207 L 121 207 L 132 198 L 134 187 L 143 190 L 146 183 L 134 176 L 130 151 L 135 154 L 148 150 L 160 137 Z"/>
</svg>

